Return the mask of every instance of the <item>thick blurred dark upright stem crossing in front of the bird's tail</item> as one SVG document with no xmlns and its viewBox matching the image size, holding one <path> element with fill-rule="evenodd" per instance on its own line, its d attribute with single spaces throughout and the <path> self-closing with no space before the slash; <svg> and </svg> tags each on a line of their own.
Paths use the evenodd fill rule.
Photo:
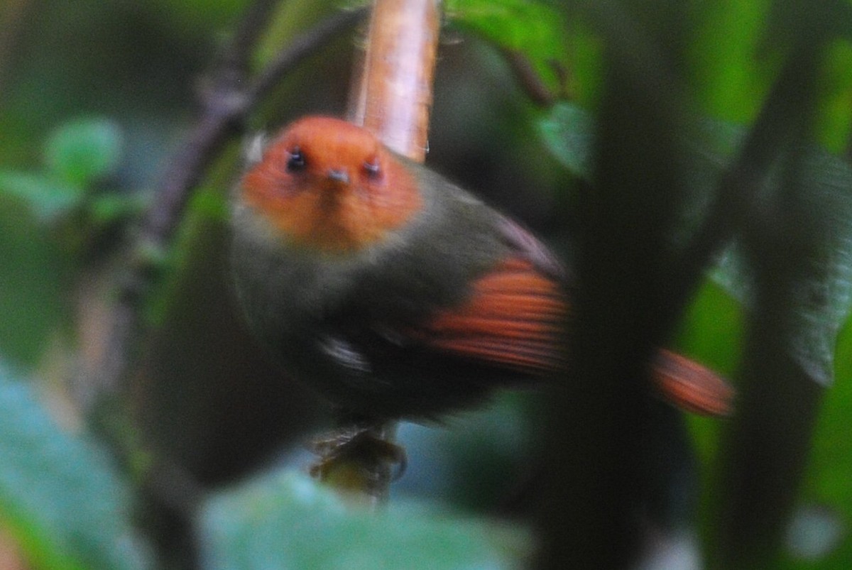
<svg viewBox="0 0 852 570">
<path fill-rule="evenodd" d="M 548 430 L 541 565 L 554 568 L 630 567 L 642 544 L 658 487 L 644 454 L 665 416 L 654 413 L 645 363 L 682 196 L 679 84 L 649 37 L 622 26 L 625 14 L 596 16 L 608 42 L 596 186 L 582 204 L 571 372 Z M 628 53 L 622 41 L 634 39 Z"/>
</svg>

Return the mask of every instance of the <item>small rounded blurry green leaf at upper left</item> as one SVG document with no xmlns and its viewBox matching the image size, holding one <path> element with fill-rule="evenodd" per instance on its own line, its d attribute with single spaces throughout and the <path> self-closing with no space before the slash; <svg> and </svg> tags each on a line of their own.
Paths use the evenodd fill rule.
<svg viewBox="0 0 852 570">
<path fill-rule="evenodd" d="M 121 157 L 122 134 L 107 118 L 82 118 L 60 125 L 44 148 L 51 172 L 76 187 L 112 173 Z"/>
</svg>

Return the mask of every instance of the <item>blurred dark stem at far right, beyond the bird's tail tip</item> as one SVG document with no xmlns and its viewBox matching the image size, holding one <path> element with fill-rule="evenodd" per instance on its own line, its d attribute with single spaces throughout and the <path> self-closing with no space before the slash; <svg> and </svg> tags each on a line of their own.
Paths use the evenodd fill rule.
<svg viewBox="0 0 852 570">
<path fill-rule="evenodd" d="M 803 291 L 825 279 L 815 260 L 825 255 L 829 228 L 803 185 L 823 41 L 819 35 L 798 38 L 764 110 L 786 133 L 772 154 L 783 174 L 771 198 L 743 212 L 749 222 L 740 225 L 755 299 L 741 370 L 740 413 L 724 440 L 712 567 L 772 567 L 777 562 L 820 408 L 820 378 L 797 341 L 804 334 L 798 319 Z M 752 164 L 760 169 L 760 163 Z"/>
</svg>

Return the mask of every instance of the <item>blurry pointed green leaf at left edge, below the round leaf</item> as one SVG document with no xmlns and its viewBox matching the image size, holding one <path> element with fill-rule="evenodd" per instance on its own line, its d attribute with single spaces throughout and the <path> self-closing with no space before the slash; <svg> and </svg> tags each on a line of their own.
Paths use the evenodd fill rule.
<svg viewBox="0 0 852 570">
<path fill-rule="evenodd" d="M 48 176 L 0 170 L 0 193 L 20 200 L 42 222 L 50 222 L 79 204 L 78 187 Z"/>
</svg>

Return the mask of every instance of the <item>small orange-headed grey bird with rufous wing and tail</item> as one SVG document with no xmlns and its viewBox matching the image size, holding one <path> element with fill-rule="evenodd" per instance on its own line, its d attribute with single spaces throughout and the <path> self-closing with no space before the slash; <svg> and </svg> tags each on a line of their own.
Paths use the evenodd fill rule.
<svg viewBox="0 0 852 570">
<path fill-rule="evenodd" d="M 567 369 L 556 257 L 354 124 L 286 127 L 240 181 L 233 225 L 250 325 L 285 371 L 356 417 L 440 419 Z M 667 350 L 652 369 L 677 404 L 728 412 L 732 390 L 711 371 Z"/>
</svg>

